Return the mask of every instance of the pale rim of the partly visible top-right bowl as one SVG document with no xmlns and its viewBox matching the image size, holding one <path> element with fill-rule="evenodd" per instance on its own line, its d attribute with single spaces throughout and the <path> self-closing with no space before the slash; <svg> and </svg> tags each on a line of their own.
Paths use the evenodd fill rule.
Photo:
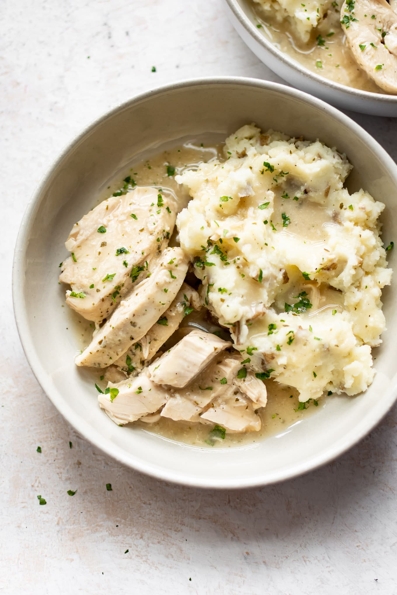
<svg viewBox="0 0 397 595">
<path fill-rule="evenodd" d="M 254 38 L 254 40 L 259 43 L 262 48 L 267 49 L 267 51 L 271 52 L 275 58 L 281 60 L 287 66 L 294 68 L 294 70 L 298 71 L 299 74 L 306 77 L 307 79 L 312 79 L 316 83 L 323 85 L 324 87 L 329 87 L 334 91 L 340 93 L 346 93 L 350 95 L 351 98 L 360 98 L 360 99 L 368 99 L 370 101 L 379 101 L 385 104 L 397 104 L 397 95 L 389 95 L 387 93 L 373 93 L 371 91 L 364 91 L 361 89 L 355 89 L 354 87 L 348 87 L 342 83 L 336 83 L 332 80 L 326 79 L 320 74 L 312 72 L 309 68 L 302 66 L 299 64 L 298 60 L 294 60 L 294 58 L 290 58 L 285 52 L 277 49 L 276 46 L 273 45 L 270 41 L 268 41 L 264 35 L 261 35 L 260 31 L 257 27 L 254 27 L 254 24 L 249 20 L 246 16 L 245 12 L 241 7 L 241 0 L 224 0 L 226 4 L 229 6 L 230 10 L 233 12 L 239 23 L 244 27 L 247 33 Z M 246 2 L 246 0 L 243 0 Z"/>
</svg>

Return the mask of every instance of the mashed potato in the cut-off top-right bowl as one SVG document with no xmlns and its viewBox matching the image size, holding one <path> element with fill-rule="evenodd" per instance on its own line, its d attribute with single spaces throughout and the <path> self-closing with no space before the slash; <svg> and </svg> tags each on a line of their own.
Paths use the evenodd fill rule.
<svg viewBox="0 0 397 595">
<path fill-rule="evenodd" d="M 277 21 L 287 18 L 293 25 L 302 41 L 307 42 L 312 30 L 317 27 L 327 10 L 332 6 L 332 0 L 306 0 L 302 4 L 298 0 L 254 0 L 262 10 L 271 13 Z"/>
</svg>

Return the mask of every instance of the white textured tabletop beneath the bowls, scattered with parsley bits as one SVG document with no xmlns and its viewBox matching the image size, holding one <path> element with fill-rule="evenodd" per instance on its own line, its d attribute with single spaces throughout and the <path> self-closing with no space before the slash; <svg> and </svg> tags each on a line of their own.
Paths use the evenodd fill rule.
<svg viewBox="0 0 397 595">
<path fill-rule="evenodd" d="M 397 593 L 396 408 L 294 481 L 229 493 L 172 486 L 76 435 L 38 386 L 13 320 L 21 216 L 82 127 L 158 84 L 277 77 L 220 0 L 3 0 L 1 25 L 0 592 Z M 353 117 L 397 158 L 397 121 Z"/>
</svg>

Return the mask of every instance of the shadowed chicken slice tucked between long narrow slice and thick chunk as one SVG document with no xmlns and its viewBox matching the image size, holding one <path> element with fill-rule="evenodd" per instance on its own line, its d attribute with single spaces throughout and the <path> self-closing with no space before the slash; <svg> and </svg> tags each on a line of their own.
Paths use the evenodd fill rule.
<svg viewBox="0 0 397 595">
<path fill-rule="evenodd" d="M 126 372 L 134 369 L 141 370 L 158 352 L 160 347 L 177 330 L 180 322 L 190 312 L 190 306 L 195 310 L 201 309 L 198 293 L 187 283 L 183 283 L 173 303 L 161 318 L 149 328 L 139 343 L 132 345 L 115 365 Z"/>
</svg>

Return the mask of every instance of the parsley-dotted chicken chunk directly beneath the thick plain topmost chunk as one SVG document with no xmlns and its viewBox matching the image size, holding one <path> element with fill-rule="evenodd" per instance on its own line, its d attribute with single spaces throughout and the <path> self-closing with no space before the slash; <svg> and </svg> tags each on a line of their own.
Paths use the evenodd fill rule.
<svg viewBox="0 0 397 595">
<path fill-rule="evenodd" d="M 234 390 L 233 380 L 241 367 L 241 358 L 220 353 L 214 362 L 184 389 L 172 389 L 170 398 L 161 411 L 162 417 L 175 421 L 199 421 L 199 413 L 213 399 L 224 392 Z"/>
</svg>

